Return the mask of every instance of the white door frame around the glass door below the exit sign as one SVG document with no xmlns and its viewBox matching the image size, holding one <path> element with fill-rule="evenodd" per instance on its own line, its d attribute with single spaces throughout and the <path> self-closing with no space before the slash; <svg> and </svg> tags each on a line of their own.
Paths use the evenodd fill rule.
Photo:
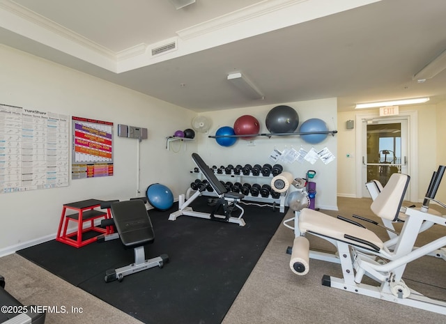
<svg viewBox="0 0 446 324">
<path fill-rule="evenodd" d="M 418 201 L 418 114 L 417 111 L 401 111 L 398 117 L 408 118 L 408 159 L 410 176 L 410 197 L 412 202 Z M 362 187 L 365 185 L 367 179 L 364 179 L 362 172 L 362 149 L 363 149 L 363 132 L 362 121 L 364 119 L 380 118 L 379 112 L 374 113 L 357 113 L 356 114 L 356 196 L 362 198 Z"/>
</svg>

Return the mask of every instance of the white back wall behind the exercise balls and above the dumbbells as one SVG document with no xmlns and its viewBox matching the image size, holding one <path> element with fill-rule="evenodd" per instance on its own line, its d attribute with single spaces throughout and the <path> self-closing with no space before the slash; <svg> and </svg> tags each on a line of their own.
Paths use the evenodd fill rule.
<svg viewBox="0 0 446 324">
<path fill-rule="evenodd" d="M 279 104 L 277 104 L 279 105 Z M 268 111 L 277 106 L 257 106 L 249 108 L 239 108 L 224 111 L 213 111 L 203 114 L 208 116 L 213 121 L 213 126 L 209 134 L 215 134 L 218 128 L 222 126 L 233 127 L 236 119 L 243 115 L 252 115 L 257 118 L 261 124 L 260 132 L 268 133 L 266 129 L 265 119 Z M 310 100 L 303 102 L 288 102 L 280 105 L 288 105 L 293 107 L 298 112 L 300 118 L 300 125 L 309 118 L 321 118 L 328 125 L 329 130 L 335 130 L 337 125 L 337 100 L 336 98 L 323 100 Z M 255 146 L 247 146 L 247 141 L 238 139 L 236 144 L 229 147 L 220 146 L 215 139 L 202 139 L 199 142 L 199 154 L 203 160 L 212 166 L 213 164 L 220 167 L 220 165 L 233 164 L 273 164 L 269 160 L 269 155 L 277 148 L 283 151 L 284 148 L 295 148 L 296 151 L 302 146 L 307 151 L 312 148 L 312 144 L 307 144 L 302 141 L 298 135 L 290 137 L 256 137 Z M 319 144 L 314 144 L 317 151 L 325 148 L 325 146 L 336 156 L 337 155 L 337 135 L 328 137 Z M 324 164 L 318 160 L 315 164 L 304 162 L 294 162 L 293 164 L 284 164 L 284 171 L 293 173 L 295 178 L 305 177 L 305 173 L 309 169 L 316 171 L 316 207 L 337 210 L 337 159 L 329 164 Z M 226 179 L 223 179 L 226 181 Z M 254 183 L 253 179 L 247 180 Z M 260 183 L 261 179 L 259 179 Z"/>
</svg>

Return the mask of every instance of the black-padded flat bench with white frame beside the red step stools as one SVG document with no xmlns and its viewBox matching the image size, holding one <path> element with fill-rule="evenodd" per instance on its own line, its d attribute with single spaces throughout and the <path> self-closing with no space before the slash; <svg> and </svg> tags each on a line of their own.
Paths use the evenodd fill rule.
<svg viewBox="0 0 446 324">
<path fill-rule="evenodd" d="M 107 207 L 107 206 L 104 206 Z M 105 273 L 105 282 L 114 280 L 122 281 L 123 277 L 135 272 L 158 266 L 163 267 L 169 262 L 169 256 L 162 254 L 153 259 L 146 260 L 144 245 L 151 244 L 155 240 L 155 233 L 146 206 L 142 199 L 130 201 L 110 202 L 110 209 L 116 226 L 117 233 L 103 235 L 98 242 L 105 242 L 121 238 L 124 247 L 134 249 L 134 263 L 118 269 L 110 269 Z M 105 226 L 111 226 L 109 219 Z"/>
</svg>

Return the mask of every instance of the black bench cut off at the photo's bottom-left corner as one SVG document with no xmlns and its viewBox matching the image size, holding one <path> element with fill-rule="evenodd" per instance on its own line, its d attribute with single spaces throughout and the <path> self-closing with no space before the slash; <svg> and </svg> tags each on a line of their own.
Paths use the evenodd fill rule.
<svg viewBox="0 0 446 324">
<path fill-rule="evenodd" d="M 1 324 L 43 324 L 45 312 L 38 306 L 24 306 L 5 290 L 5 278 L 0 275 L 0 312 Z M 3 309 L 4 308 L 4 309 Z"/>
</svg>

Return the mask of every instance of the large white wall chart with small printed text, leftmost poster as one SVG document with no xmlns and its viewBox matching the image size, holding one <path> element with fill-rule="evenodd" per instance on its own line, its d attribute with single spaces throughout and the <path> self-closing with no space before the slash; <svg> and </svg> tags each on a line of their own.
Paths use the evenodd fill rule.
<svg viewBox="0 0 446 324">
<path fill-rule="evenodd" d="M 69 184 L 70 118 L 0 104 L 0 194 Z"/>
</svg>

